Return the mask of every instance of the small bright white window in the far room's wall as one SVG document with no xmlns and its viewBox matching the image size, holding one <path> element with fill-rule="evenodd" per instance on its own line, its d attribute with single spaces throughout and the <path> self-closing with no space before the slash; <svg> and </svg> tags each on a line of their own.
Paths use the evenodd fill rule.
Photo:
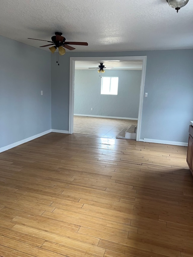
<svg viewBox="0 0 193 257">
<path fill-rule="evenodd" d="M 101 95 L 117 95 L 119 77 L 101 78 Z"/>
</svg>

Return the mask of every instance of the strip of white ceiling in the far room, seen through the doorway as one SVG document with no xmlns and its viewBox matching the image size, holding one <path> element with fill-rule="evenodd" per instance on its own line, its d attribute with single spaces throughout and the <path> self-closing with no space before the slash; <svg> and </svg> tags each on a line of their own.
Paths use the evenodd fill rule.
<svg viewBox="0 0 193 257">
<path fill-rule="evenodd" d="M 75 69 L 92 70 L 89 67 L 97 68 L 100 63 L 110 70 L 142 70 L 143 64 L 142 61 L 75 61 Z"/>
</svg>

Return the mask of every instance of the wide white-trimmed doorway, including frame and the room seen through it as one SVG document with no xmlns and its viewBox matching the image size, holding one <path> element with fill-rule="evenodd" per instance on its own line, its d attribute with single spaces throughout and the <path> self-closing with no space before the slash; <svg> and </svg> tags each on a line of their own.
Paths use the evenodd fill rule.
<svg viewBox="0 0 193 257">
<path fill-rule="evenodd" d="M 103 72 L 97 72 L 99 71 L 97 64 L 101 63 L 105 64 L 105 75 Z M 90 67 L 93 69 L 89 69 Z M 138 124 L 135 138 L 139 141 L 145 68 L 146 56 L 71 57 L 69 133 L 115 138 L 121 130 L 123 132 L 123 129 L 131 125 L 135 129 Z M 134 78 L 136 81 L 132 81 Z M 79 82 L 78 88 L 76 88 L 77 81 Z M 128 87 L 131 93 L 133 90 L 133 97 L 128 96 Z M 138 101 L 134 96 L 137 91 Z M 81 126 L 83 126 L 82 129 Z M 118 138 L 122 138 L 121 134 Z"/>
</svg>

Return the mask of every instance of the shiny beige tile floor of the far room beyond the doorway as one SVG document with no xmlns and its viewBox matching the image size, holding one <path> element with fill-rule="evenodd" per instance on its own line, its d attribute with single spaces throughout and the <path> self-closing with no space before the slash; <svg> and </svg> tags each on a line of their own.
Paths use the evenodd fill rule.
<svg viewBox="0 0 193 257">
<path fill-rule="evenodd" d="M 104 136 L 115 138 L 116 135 L 125 128 L 131 125 L 136 125 L 137 121 L 111 119 L 111 118 L 97 118 L 74 115 L 74 133 Z"/>
</svg>

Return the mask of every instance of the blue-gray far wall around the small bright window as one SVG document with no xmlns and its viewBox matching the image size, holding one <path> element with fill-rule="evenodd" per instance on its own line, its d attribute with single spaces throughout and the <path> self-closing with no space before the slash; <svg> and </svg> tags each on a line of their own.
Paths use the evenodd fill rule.
<svg viewBox="0 0 193 257">
<path fill-rule="evenodd" d="M 117 95 L 101 95 L 96 70 L 75 70 L 74 113 L 138 118 L 141 71 L 106 70 L 102 77 L 119 77 Z"/>
</svg>

